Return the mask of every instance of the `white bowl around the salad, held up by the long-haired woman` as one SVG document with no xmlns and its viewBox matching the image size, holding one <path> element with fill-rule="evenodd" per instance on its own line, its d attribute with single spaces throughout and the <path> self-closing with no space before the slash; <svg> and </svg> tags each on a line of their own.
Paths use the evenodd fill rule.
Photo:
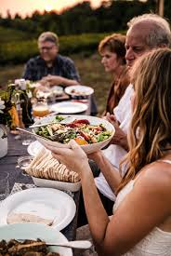
<svg viewBox="0 0 171 256">
<path fill-rule="evenodd" d="M 68 115 L 60 115 L 60 116 L 67 117 Z M 107 120 L 96 117 L 96 116 L 90 116 L 90 115 L 70 115 L 70 116 L 74 116 L 75 119 L 87 119 L 90 122 L 90 125 L 96 126 L 96 125 L 102 124 L 107 130 L 111 131 L 111 136 L 105 141 L 100 141 L 97 143 L 92 143 L 92 144 L 87 144 L 87 145 L 81 145 L 81 148 L 85 151 L 86 154 L 91 154 L 91 153 L 98 151 L 99 149 L 105 147 L 112 140 L 112 136 L 114 135 L 115 129 L 112 126 L 112 124 L 110 122 L 108 122 Z M 40 120 L 36 121 L 34 123 L 34 125 L 48 123 L 48 122 L 54 120 L 54 117 L 55 117 L 55 115 L 49 115 L 49 116 L 43 117 Z M 33 128 L 33 133 L 35 133 L 36 130 L 37 130 L 37 128 Z M 69 148 L 68 144 L 62 144 L 62 143 L 59 143 L 58 141 L 46 140 L 44 137 L 42 137 L 42 138 L 36 137 L 36 140 L 40 141 L 45 146 L 52 145 L 55 147 Z"/>
</svg>

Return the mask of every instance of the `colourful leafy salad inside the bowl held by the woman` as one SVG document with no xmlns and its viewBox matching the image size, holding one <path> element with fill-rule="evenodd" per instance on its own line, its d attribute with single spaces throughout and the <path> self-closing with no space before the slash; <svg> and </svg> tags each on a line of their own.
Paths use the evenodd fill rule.
<svg viewBox="0 0 171 256">
<path fill-rule="evenodd" d="M 36 134 L 64 144 L 73 139 L 81 145 L 105 141 L 112 135 L 111 131 L 102 124 L 91 125 L 87 119 L 75 119 L 69 124 L 52 122 L 50 125 L 38 128 Z"/>
</svg>

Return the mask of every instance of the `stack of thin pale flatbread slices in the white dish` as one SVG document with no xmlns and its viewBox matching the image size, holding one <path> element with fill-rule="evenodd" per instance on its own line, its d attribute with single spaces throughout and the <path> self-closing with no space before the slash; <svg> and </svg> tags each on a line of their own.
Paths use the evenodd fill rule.
<svg viewBox="0 0 171 256">
<path fill-rule="evenodd" d="M 56 180 L 59 182 L 79 182 L 78 173 L 66 168 L 54 158 L 50 151 L 43 148 L 34 158 L 25 171 L 36 178 Z"/>
</svg>

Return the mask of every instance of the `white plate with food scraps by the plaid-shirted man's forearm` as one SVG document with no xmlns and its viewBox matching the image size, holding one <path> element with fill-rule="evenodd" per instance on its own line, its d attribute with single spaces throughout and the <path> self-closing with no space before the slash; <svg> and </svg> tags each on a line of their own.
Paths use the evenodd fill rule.
<svg viewBox="0 0 171 256">
<path fill-rule="evenodd" d="M 94 93 L 94 89 L 85 86 L 72 86 L 65 88 L 65 92 L 72 96 L 89 96 Z"/>
</svg>

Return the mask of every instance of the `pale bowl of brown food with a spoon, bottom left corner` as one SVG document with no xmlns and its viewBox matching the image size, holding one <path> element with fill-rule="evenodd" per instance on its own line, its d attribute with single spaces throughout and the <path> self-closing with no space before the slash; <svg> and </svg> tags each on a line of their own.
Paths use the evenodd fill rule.
<svg viewBox="0 0 171 256">
<path fill-rule="evenodd" d="M 72 256 L 72 249 L 46 245 L 67 241 L 58 230 L 40 223 L 15 223 L 0 227 L 2 255 Z M 33 251 L 35 254 L 31 254 Z"/>
</svg>

